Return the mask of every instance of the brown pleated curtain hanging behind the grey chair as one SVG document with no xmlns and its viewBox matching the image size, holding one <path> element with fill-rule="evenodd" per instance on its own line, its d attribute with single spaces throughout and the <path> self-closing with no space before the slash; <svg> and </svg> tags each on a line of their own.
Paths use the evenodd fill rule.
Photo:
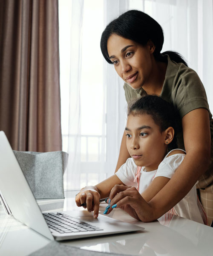
<svg viewBox="0 0 213 256">
<path fill-rule="evenodd" d="M 0 0 L 0 130 L 14 150 L 58 151 L 58 0 Z"/>
</svg>

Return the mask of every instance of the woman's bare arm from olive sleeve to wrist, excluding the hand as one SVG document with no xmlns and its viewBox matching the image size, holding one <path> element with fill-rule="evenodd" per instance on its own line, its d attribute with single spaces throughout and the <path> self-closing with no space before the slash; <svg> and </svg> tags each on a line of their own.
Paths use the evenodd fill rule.
<svg viewBox="0 0 213 256">
<path fill-rule="evenodd" d="M 190 111 L 182 118 L 182 128 L 187 154 L 171 180 L 149 202 L 154 209 L 153 218 L 160 217 L 184 198 L 210 164 L 208 111 L 204 108 Z"/>
</svg>

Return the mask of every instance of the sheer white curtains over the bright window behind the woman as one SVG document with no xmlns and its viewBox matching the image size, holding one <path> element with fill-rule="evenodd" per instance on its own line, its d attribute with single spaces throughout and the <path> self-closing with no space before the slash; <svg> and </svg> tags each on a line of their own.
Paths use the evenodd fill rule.
<svg viewBox="0 0 213 256">
<path fill-rule="evenodd" d="M 105 26 L 129 9 L 164 29 L 162 51 L 181 53 L 196 70 L 213 111 L 212 0 L 59 0 L 63 150 L 69 153 L 67 189 L 112 175 L 126 122 L 123 81 L 100 50 Z"/>
</svg>

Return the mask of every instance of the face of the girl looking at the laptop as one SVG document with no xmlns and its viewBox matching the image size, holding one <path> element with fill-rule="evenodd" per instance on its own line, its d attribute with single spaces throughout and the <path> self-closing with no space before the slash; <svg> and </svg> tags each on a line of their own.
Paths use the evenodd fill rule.
<svg viewBox="0 0 213 256">
<path fill-rule="evenodd" d="M 167 130 L 161 133 L 148 114 L 127 118 L 127 149 L 137 166 L 144 166 L 147 172 L 158 169 L 167 152 Z"/>
</svg>

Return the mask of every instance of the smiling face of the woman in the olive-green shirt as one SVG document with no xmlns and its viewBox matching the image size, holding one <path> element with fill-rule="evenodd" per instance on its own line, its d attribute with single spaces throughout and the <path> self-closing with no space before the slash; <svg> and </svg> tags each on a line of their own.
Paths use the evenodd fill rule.
<svg viewBox="0 0 213 256">
<path fill-rule="evenodd" d="M 154 49 L 150 41 L 143 47 L 115 34 L 107 41 L 109 58 L 116 72 L 133 89 L 140 89 L 149 82 Z"/>
</svg>

